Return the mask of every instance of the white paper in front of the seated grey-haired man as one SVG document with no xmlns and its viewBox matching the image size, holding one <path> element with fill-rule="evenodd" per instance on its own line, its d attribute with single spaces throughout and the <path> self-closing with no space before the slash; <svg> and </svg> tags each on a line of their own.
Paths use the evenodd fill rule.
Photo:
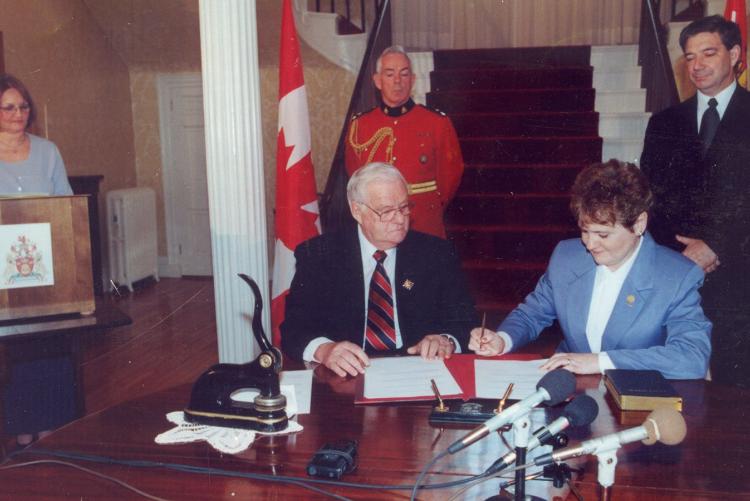
<svg viewBox="0 0 750 501">
<path fill-rule="evenodd" d="M 409 398 L 434 395 L 434 379 L 441 395 L 461 393 L 461 387 L 442 360 L 422 357 L 373 358 L 365 369 L 365 398 Z"/>
</svg>

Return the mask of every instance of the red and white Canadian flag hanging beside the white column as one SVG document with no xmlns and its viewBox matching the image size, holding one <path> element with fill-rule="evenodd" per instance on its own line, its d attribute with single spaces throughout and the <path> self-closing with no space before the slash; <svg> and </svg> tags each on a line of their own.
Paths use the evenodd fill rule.
<svg viewBox="0 0 750 501">
<path fill-rule="evenodd" d="M 294 249 L 320 234 L 318 195 L 310 157 L 307 92 L 290 0 L 284 0 L 281 14 L 275 230 L 271 323 L 273 344 L 280 346 L 279 326 L 284 320 L 284 303 L 294 277 Z"/>
</svg>

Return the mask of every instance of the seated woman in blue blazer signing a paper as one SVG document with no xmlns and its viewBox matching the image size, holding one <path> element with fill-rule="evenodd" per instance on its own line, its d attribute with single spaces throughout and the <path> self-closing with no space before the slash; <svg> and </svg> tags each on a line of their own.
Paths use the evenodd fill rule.
<svg viewBox="0 0 750 501">
<path fill-rule="evenodd" d="M 570 203 L 580 240 L 560 242 L 534 291 L 497 332 L 474 329 L 469 348 L 507 353 L 557 320 L 564 339 L 545 369 L 704 377 L 711 322 L 698 293 L 703 271 L 646 233 L 652 201 L 648 181 L 632 164 L 610 160 L 582 170 Z"/>
</svg>

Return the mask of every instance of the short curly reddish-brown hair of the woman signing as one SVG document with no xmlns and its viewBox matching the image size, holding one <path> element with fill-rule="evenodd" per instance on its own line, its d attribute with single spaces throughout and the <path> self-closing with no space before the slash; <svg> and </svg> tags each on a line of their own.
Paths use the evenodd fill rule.
<svg viewBox="0 0 750 501">
<path fill-rule="evenodd" d="M 654 201 L 646 176 L 633 164 L 611 159 L 589 165 L 576 176 L 570 210 L 576 220 L 620 223 L 632 229 Z"/>
</svg>

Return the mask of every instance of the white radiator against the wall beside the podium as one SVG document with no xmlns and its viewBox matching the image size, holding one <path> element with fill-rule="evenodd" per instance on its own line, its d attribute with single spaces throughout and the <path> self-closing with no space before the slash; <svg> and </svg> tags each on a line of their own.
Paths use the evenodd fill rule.
<svg viewBox="0 0 750 501">
<path fill-rule="evenodd" d="M 152 275 L 159 280 L 154 190 L 129 188 L 108 192 L 107 234 L 113 282 L 127 285 L 132 292 L 133 282 Z"/>
</svg>

